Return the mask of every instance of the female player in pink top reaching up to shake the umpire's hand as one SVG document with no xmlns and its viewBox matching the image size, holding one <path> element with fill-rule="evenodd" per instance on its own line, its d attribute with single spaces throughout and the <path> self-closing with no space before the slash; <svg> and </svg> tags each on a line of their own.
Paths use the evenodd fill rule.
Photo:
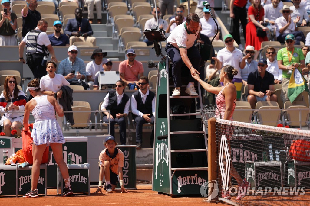
<svg viewBox="0 0 310 206">
<path fill-rule="evenodd" d="M 236 68 L 231 65 L 224 66 L 219 74 L 219 81 L 224 83 L 224 86 L 222 87 L 213 87 L 201 80 L 198 74 L 195 76 L 192 75 L 204 89 L 208 92 L 217 94 L 215 99 L 216 105 L 219 108 L 222 118 L 226 120 L 233 120 L 232 115 L 236 107 L 237 89 L 235 85 L 232 84 L 232 79 L 233 76 L 237 74 L 238 70 Z M 215 117 L 219 118 L 220 116 L 215 113 Z M 227 138 L 227 141 L 229 144 L 229 137 Z M 231 166 L 230 175 L 237 180 L 238 184 L 242 188 L 242 190 L 238 189 L 238 196 L 236 198 L 237 200 L 241 200 L 246 196 L 246 191 L 247 188 L 250 187 L 250 183 L 245 179 L 243 180 L 233 166 Z M 231 199 L 228 191 L 225 191 L 224 189 L 222 189 L 222 197 L 229 200 Z"/>
</svg>

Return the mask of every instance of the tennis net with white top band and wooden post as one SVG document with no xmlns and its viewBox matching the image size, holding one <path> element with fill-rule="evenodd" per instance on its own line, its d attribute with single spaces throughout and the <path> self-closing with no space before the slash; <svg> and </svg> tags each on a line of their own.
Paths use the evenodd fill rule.
<svg viewBox="0 0 310 206">
<path fill-rule="evenodd" d="M 233 205 L 309 204 L 310 131 L 209 121 L 209 181 L 217 181 L 219 200 Z"/>
</svg>

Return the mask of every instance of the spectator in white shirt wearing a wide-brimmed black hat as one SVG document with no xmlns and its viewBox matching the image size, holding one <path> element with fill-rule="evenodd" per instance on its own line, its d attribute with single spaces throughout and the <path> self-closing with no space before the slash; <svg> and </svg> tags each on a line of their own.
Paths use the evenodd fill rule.
<svg viewBox="0 0 310 206">
<path fill-rule="evenodd" d="M 95 49 L 91 55 L 91 62 L 86 65 L 86 77 L 87 84 L 91 89 L 93 89 L 93 84 L 98 76 L 98 72 L 103 71 L 103 61 L 102 59 L 107 56 L 107 52 L 103 52 L 102 49 Z"/>
</svg>

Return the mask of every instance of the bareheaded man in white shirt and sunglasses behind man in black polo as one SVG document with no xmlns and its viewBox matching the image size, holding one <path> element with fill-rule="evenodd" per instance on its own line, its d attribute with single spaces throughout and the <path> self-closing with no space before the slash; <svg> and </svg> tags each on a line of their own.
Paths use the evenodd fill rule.
<svg viewBox="0 0 310 206">
<path fill-rule="evenodd" d="M 274 77 L 274 84 L 281 84 L 282 83 L 282 70 L 279 69 L 278 62 L 275 59 L 276 56 L 276 49 L 273 47 L 268 47 L 266 51 L 267 57 L 267 69 L 270 74 Z"/>
</svg>

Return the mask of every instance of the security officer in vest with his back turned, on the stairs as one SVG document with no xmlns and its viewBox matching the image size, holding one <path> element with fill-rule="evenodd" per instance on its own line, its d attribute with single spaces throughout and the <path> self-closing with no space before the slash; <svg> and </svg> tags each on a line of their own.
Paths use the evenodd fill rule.
<svg viewBox="0 0 310 206">
<path fill-rule="evenodd" d="M 47 21 L 38 21 L 38 29 L 28 32 L 20 42 L 19 56 L 20 62 L 27 64 L 33 73 L 34 78 L 40 79 L 46 75 L 46 62 L 48 52 L 51 53 L 51 60 L 57 62 L 54 49 L 51 45 L 50 39 L 45 33 L 47 30 Z M 24 47 L 27 45 L 26 60 L 24 59 Z"/>
</svg>

